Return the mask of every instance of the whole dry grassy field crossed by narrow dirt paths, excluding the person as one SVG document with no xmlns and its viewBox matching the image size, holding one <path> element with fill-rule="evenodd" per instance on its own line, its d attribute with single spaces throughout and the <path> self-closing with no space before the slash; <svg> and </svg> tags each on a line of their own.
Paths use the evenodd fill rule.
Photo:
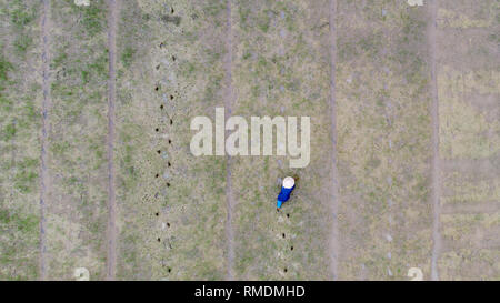
<svg viewBox="0 0 500 303">
<path fill-rule="evenodd" d="M 408 2 L 0 0 L 0 280 L 500 280 L 500 2 Z"/>
</svg>

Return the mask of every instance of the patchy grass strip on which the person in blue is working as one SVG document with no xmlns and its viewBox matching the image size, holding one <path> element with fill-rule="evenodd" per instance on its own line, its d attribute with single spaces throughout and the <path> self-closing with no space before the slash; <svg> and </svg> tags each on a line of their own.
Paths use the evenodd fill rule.
<svg viewBox="0 0 500 303">
<path fill-rule="evenodd" d="M 232 84 L 238 93 L 232 114 L 311 118 L 309 166 L 290 169 L 284 156 L 232 160 L 237 276 L 329 279 L 329 57 L 322 48 L 328 28 L 316 30 L 328 20 L 321 10 L 328 3 L 238 1 L 236 7 L 240 16 L 233 18 L 233 32 L 240 39 L 234 46 Z M 280 180 L 287 175 L 300 181 L 277 212 Z"/>
</svg>

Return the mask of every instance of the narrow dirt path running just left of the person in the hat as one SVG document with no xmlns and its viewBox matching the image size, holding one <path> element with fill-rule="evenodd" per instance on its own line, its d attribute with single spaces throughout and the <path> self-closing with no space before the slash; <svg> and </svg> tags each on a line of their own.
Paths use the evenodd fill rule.
<svg viewBox="0 0 500 303">
<path fill-rule="evenodd" d="M 233 100 L 232 94 L 232 21 L 231 21 L 231 0 L 227 1 L 226 4 L 227 13 L 227 32 L 226 32 L 226 58 L 224 58 L 224 71 L 226 71 L 226 91 L 224 91 L 224 108 L 226 108 L 226 119 L 231 114 L 231 104 Z M 231 158 L 226 156 L 226 206 L 228 211 L 228 216 L 226 219 L 226 239 L 228 241 L 228 272 L 226 275 L 227 280 L 234 280 L 234 232 L 232 229 L 232 212 L 234 205 L 234 198 L 232 194 L 232 180 L 231 180 Z"/>
</svg>

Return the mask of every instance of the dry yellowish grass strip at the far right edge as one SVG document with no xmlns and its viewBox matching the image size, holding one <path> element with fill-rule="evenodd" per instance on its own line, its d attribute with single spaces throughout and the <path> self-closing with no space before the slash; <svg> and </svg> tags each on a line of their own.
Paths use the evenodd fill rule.
<svg viewBox="0 0 500 303">
<path fill-rule="evenodd" d="M 438 10 L 444 37 L 438 67 L 441 215 L 441 279 L 498 280 L 500 74 L 492 52 L 498 1 L 443 1 Z M 454 49 L 446 48 L 456 46 Z"/>
</svg>

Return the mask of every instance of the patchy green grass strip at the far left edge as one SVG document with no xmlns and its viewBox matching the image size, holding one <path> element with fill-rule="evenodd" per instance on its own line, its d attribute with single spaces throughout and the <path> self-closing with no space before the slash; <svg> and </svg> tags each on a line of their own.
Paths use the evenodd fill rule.
<svg viewBox="0 0 500 303">
<path fill-rule="evenodd" d="M 0 280 L 37 280 L 40 91 L 24 53 L 39 30 L 38 2 L 0 1 Z"/>
</svg>

